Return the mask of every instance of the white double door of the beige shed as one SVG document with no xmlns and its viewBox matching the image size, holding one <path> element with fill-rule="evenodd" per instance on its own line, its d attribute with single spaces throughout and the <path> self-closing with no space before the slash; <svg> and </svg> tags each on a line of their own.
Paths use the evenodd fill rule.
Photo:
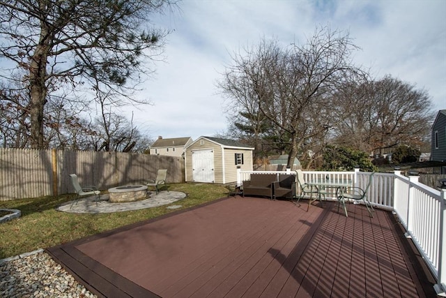
<svg viewBox="0 0 446 298">
<path fill-rule="evenodd" d="M 214 151 L 192 151 L 192 177 L 195 182 L 214 182 Z"/>
</svg>

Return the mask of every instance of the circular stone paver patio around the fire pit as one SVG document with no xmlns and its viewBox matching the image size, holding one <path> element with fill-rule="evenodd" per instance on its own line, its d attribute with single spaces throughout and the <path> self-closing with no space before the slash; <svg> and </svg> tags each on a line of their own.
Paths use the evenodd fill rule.
<svg viewBox="0 0 446 298">
<path fill-rule="evenodd" d="M 184 198 L 186 198 L 186 194 L 180 191 L 160 191 L 158 194 L 151 192 L 150 198 L 146 200 L 113 203 L 109 202 L 109 195 L 101 195 L 97 206 L 94 197 L 89 197 L 80 199 L 72 207 L 72 201 L 65 202 L 57 210 L 70 213 L 111 213 L 162 206 Z"/>
</svg>

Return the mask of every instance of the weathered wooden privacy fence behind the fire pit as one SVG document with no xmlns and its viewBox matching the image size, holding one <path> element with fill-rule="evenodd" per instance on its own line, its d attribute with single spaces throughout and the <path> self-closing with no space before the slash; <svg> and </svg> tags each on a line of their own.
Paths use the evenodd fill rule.
<svg viewBox="0 0 446 298">
<path fill-rule="evenodd" d="M 144 184 L 167 169 L 167 183 L 185 181 L 180 157 L 123 152 L 0 149 L 0 200 L 74 193 L 69 174 L 100 190 Z"/>
</svg>

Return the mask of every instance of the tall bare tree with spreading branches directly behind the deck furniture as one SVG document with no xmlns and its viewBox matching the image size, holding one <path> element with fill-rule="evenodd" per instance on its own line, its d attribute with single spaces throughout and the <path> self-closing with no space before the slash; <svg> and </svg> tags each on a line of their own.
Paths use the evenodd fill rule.
<svg viewBox="0 0 446 298">
<path fill-rule="evenodd" d="M 332 95 L 362 75 L 351 61 L 353 50 L 357 47 L 348 33 L 328 27 L 316 29 L 305 45 L 283 48 L 262 40 L 258 47 L 233 58 L 220 87 L 245 112 L 249 112 L 245 101 L 256 103 L 259 112 L 286 136 L 283 142 L 291 166 L 305 145 L 325 137 L 332 126 Z M 234 85 L 249 91 L 243 95 Z"/>
</svg>

